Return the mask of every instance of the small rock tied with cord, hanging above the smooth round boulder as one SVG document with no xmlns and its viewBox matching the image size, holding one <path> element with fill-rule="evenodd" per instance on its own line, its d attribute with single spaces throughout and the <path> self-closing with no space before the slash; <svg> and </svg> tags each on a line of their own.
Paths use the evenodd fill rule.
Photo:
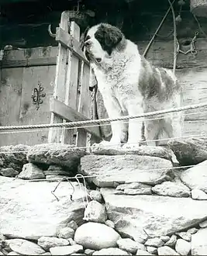
<svg viewBox="0 0 207 256">
<path fill-rule="evenodd" d="M 84 220 L 105 223 L 105 220 L 107 220 L 105 206 L 102 206 L 100 202 L 95 200 L 88 202 L 88 206 L 85 209 Z"/>
</svg>

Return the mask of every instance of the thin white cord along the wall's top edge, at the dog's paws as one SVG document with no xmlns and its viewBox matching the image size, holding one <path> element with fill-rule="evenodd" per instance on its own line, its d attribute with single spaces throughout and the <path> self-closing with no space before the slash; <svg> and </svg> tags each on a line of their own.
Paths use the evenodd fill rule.
<svg viewBox="0 0 207 256">
<path fill-rule="evenodd" d="M 191 137 L 193 137 L 193 138 L 195 138 L 195 137 L 197 137 L 197 138 L 206 138 L 205 134 L 200 133 L 200 134 L 192 134 L 192 135 L 182 136 L 182 137 L 170 137 L 170 138 L 157 139 L 157 140 L 146 140 L 146 142 L 152 142 L 152 141 L 155 142 L 155 141 L 164 141 L 164 140 L 173 140 L 173 139 L 187 139 L 187 138 L 191 138 Z M 110 144 L 109 147 L 105 146 L 105 149 L 107 149 L 107 148 L 110 149 L 111 147 L 117 147 L 117 146 L 120 147 L 122 145 L 124 145 L 124 143 L 121 143 L 121 144 Z M 129 145 L 139 145 L 139 143 L 133 142 L 133 143 L 129 143 Z M 71 145 L 71 146 L 72 146 L 71 149 L 73 149 L 73 150 L 76 150 L 76 149 L 91 149 L 91 148 L 93 148 L 93 146 L 85 146 L 85 147 L 75 147 L 74 145 Z M 5 146 L 5 147 L 7 147 L 7 146 Z M 33 150 L 33 152 L 47 152 L 48 150 L 50 150 L 50 152 L 57 151 L 57 149 L 40 150 L 40 148 L 39 148 L 37 150 Z M 28 151 L 29 150 L 1 151 L 1 148 L 0 148 L 0 155 L 1 154 L 28 153 Z"/>
</svg>

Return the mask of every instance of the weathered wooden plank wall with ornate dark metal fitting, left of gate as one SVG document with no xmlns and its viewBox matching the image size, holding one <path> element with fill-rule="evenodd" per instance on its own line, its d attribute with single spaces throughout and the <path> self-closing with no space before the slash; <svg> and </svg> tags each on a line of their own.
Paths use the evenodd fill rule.
<svg viewBox="0 0 207 256">
<path fill-rule="evenodd" d="M 0 68 L 0 125 L 50 123 L 50 97 L 53 95 L 57 47 L 9 50 Z M 43 86 L 46 97 L 36 110 L 33 89 Z M 47 143 L 47 130 L 0 133 L 0 146 Z"/>
</svg>

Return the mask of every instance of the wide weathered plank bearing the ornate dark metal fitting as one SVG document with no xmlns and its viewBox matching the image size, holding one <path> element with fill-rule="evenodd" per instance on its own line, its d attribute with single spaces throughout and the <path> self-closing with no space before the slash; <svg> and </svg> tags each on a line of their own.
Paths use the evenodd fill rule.
<svg viewBox="0 0 207 256">
<path fill-rule="evenodd" d="M 22 81 L 22 102 L 20 109 L 20 125 L 33 125 L 50 123 L 50 97 L 53 95 L 53 85 L 55 80 L 55 66 L 48 67 L 26 67 L 23 70 Z M 43 103 L 36 109 L 31 95 L 33 89 L 38 88 L 38 83 L 43 87 Z M 33 130 L 29 133 L 19 133 L 19 141 L 23 144 L 43 144 L 47 143 L 48 130 Z"/>
</svg>

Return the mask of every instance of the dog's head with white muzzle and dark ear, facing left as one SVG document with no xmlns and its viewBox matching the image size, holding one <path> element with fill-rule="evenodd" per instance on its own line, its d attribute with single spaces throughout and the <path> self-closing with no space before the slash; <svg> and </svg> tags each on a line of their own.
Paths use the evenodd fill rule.
<svg viewBox="0 0 207 256">
<path fill-rule="evenodd" d="M 92 26 L 85 31 L 82 40 L 85 57 L 96 64 L 102 63 L 105 57 L 110 57 L 113 50 L 122 50 L 126 41 L 116 26 L 106 23 Z"/>
</svg>

